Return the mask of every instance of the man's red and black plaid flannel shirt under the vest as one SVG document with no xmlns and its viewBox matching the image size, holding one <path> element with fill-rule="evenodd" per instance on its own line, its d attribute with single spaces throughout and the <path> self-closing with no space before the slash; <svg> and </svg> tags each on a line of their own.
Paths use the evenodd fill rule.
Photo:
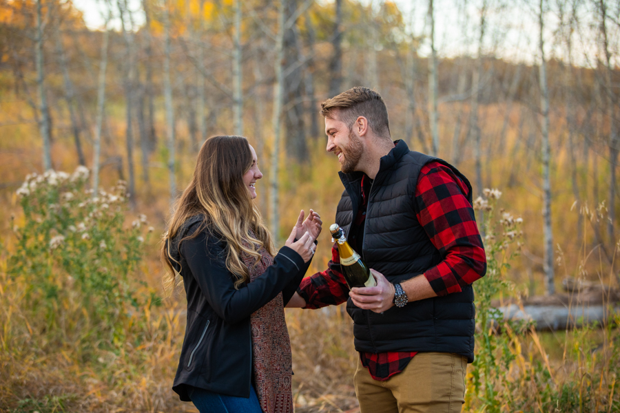
<svg viewBox="0 0 620 413">
<path fill-rule="evenodd" d="M 364 177 L 366 178 L 366 177 Z M 444 260 L 429 268 L 428 279 L 437 295 L 458 293 L 462 286 L 480 278 L 486 267 L 482 237 L 474 220 L 472 205 L 467 200 L 468 188 L 452 169 L 440 162 L 422 167 L 415 188 L 415 216 Z M 366 193 L 362 179 L 362 206 L 355 226 L 366 217 Z M 304 278 L 298 293 L 306 300 L 305 308 L 321 308 L 342 304 L 349 297 L 349 286 L 340 272 L 340 257 L 334 244 L 327 271 Z M 417 352 L 360 352 L 362 365 L 373 379 L 384 381 L 402 372 Z"/>
</svg>

